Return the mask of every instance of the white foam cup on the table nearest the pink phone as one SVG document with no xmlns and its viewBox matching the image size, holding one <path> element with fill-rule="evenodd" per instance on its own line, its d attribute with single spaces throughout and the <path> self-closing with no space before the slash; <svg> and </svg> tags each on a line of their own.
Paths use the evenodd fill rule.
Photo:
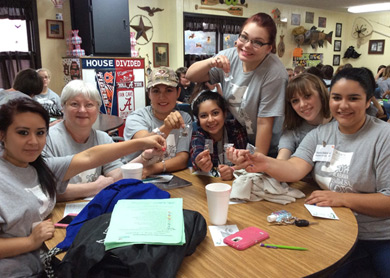
<svg viewBox="0 0 390 278">
<path fill-rule="evenodd" d="M 225 225 L 229 209 L 232 187 L 226 183 L 210 183 L 206 185 L 209 219 L 214 225 Z"/>
</svg>

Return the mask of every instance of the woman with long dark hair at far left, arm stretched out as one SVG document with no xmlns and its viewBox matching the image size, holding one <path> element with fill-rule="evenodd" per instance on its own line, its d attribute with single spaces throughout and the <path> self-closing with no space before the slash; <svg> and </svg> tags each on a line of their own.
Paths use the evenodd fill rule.
<svg viewBox="0 0 390 278">
<path fill-rule="evenodd" d="M 146 148 L 161 150 L 159 136 L 105 144 L 66 157 L 44 158 L 49 115 L 35 100 L 17 98 L 0 108 L 0 273 L 37 277 L 39 248 L 54 234 L 45 220 L 68 180 L 87 169 Z M 64 142 L 66 144 L 66 142 Z"/>
</svg>

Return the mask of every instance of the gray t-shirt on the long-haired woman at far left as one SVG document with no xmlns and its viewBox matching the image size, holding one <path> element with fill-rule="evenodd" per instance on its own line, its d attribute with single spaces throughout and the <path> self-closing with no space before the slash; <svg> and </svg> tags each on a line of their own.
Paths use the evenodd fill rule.
<svg viewBox="0 0 390 278">
<path fill-rule="evenodd" d="M 64 192 L 62 181 L 73 156 L 48 158 L 46 162 L 57 177 L 57 192 Z M 11 174 L 10 174 L 11 173 Z M 32 228 L 53 210 L 55 200 L 41 190 L 34 167 L 17 167 L 0 158 L 0 237 L 26 237 Z M 0 259 L 1 277 L 36 277 L 42 271 L 39 249 Z"/>
</svg>

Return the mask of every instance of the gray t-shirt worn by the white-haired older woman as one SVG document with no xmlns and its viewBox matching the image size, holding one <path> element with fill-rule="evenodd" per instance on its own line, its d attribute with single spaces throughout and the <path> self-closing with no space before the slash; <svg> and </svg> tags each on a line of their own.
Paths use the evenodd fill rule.
<svg viewBox="0 0 390 278">
<path fill-rule="evenodd" d="M 50 127 L 44 153 L 49 157 L 66 156 L 77 154 L 79 152 L 85 151 L 86 149 L 92 148 L 93 146 L 111 143 L 114 142 L 107 133 L 94 129 L 91 129 L 91 133 L 87 142 L 77 143 L 66 130 L 64 122 L 60 122 Z M 121 167 L 122 165 L 123 163 L 120 161 L 120 159 L 114 160 L 113 162 L 84 171 L 74 176 L 70 179 L 69 183 L 74 184 L 93 182 L 97 180 L 100 175 L 105 175 L 110 171 Z"/>
</svg>

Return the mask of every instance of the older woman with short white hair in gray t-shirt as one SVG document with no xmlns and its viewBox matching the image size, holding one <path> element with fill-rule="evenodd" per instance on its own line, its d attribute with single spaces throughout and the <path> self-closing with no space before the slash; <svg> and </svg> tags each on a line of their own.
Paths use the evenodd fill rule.
<svg viewBox="0 0 390 278">
<path fill-rule="evenodd" d="M 102 104 L 95 85 L 83 80 L 70 81 L 62 90 L 61 104 L 64 120 L 50 128 L 44 149 L 47 156 L 66 156 L 96 145 L 114 143 L 107 133 L 92 128 Z M 65 193 L 57 199 L 67 201 L 96 195 L 122 178 L 122 165 L 118 159 L 74 176 Z"/>
</svg>

